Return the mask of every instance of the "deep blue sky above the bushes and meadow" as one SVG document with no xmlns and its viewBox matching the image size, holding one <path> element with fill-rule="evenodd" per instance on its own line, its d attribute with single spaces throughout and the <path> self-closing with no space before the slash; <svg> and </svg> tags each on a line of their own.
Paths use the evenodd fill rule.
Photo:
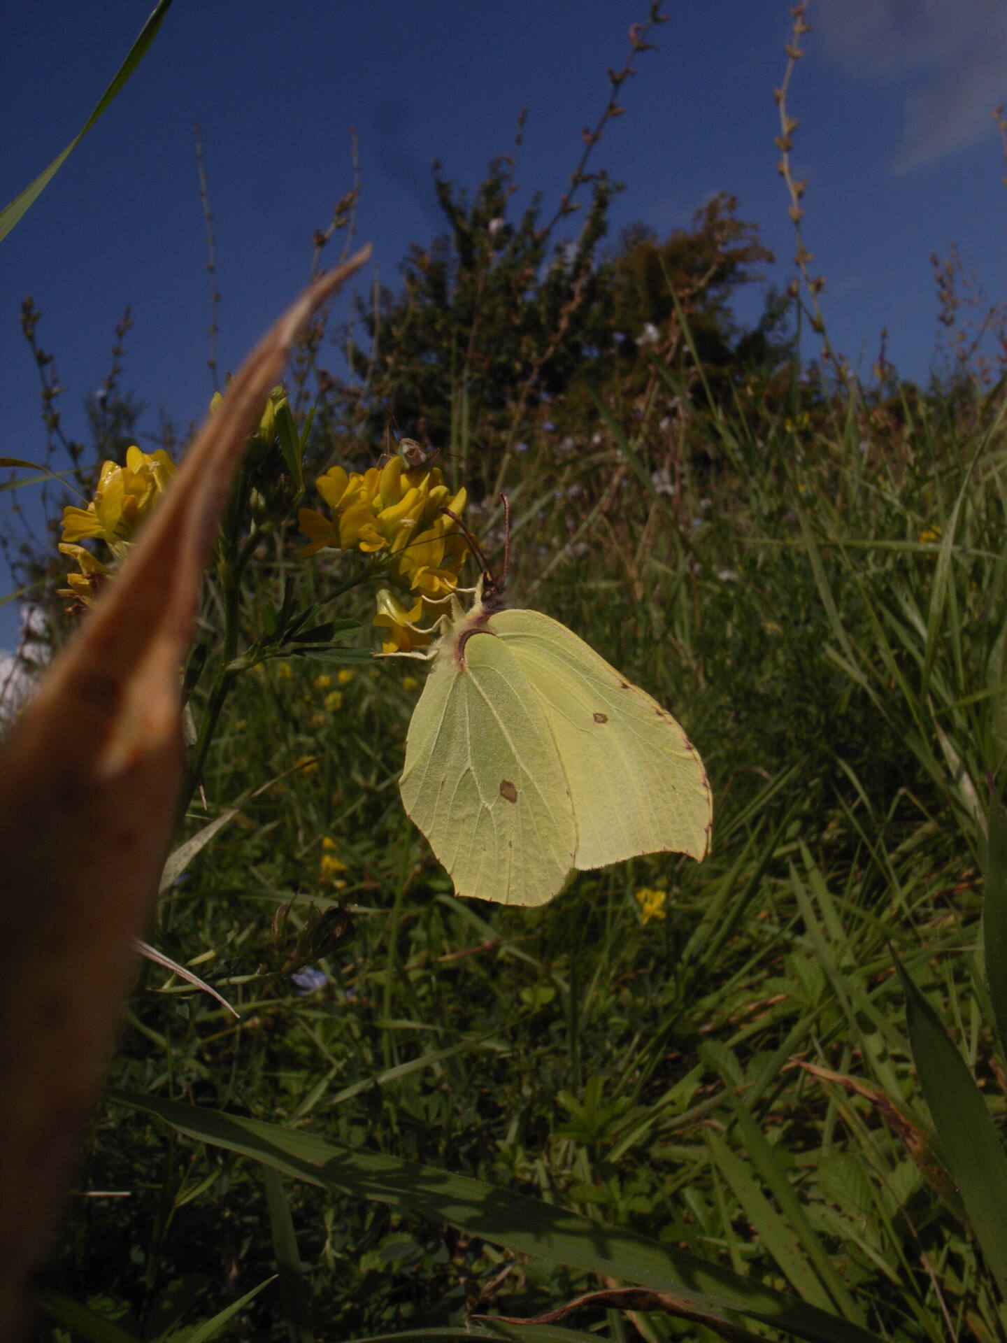
<svg viewBox="0 0 1007 1343">
<path fill-rule="evenodd" d="M 152 7 L 34 0 L 16 23 L 8 11 L 0 200 L 77 133 Z M 636 58 L 626 114 L 593 160 L 626 183 L 614 235 L 638 219 L 658 234 L 687 226 L 709 195 L 729 191 L 777 257 L 771 278 L 785 283 L 794 235 L 772 90 L 788 4 L 663 8 L 658 50 Z M 126 305 L 124 385 L 146 403 L 146 428 L 161 414 L 181 426 L 203 416 L 212 384 L 193 122 L 215 215 L 219 357 L 235 368 L 306 279 L 311 235 L 352 184 L 352 126 L 357 238 L 375 244 L 377 273 L 393 285 L 408 244 L 440 231 L 431 161 L 474 188 L 487 160 L 510 148 L 522 107 L 514 208 L 534 191 L 555 203 L 581 128 L 607 99 L 606 70 L 622 64 L 628 26 L 646 9 L 647 0 L 175 0 L 130 83 L 0 244 L 0 454 L 42 453 L 38 381 L 17 322 L 27 294 L 66 387 L 68 434 L 85 436 L 81 398 L 107 372 Z M 925 377 L 937 333 L 929 255 L 957 243 L 990 299 L 1004 298 L 1007 192 L 991 110 L 1007 98 L 1007 8 L 814 0 L 808 20 L 789 110 L 830 336 L 867 376 L 888 326 L 888 357 Z M 742 316 L 757 308 L 752 295 Z M 12 629 L 12 607 L 0 607 L 0 645 Z"/>
</svg>

